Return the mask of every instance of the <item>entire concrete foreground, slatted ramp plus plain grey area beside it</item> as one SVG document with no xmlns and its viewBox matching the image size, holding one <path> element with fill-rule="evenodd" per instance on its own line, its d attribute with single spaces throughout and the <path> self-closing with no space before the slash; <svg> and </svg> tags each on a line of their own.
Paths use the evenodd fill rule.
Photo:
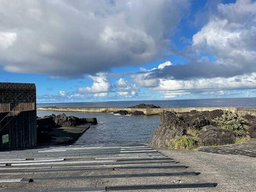
<svg viewBox="0 0 256 192">
<path fill-rule="evenodd" d="M 142 144 L 67 145 L 0 152 L 0 190 L 84 191 L 78 188 L 92 187 L 105 191 L 105 186 L 117 185 L 218 183 L 206 188 L 130 191 L 255 191 L 255 170 L 256 159 L 246 156 L 155 151 Z M 23 178 L 34 182 L 23 182 Z"/>
</svg>

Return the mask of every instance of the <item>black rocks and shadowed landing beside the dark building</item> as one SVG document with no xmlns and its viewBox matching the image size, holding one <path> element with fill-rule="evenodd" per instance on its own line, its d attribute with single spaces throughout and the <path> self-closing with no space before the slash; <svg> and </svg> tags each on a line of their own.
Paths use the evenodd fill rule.
<svg viewBox="0 0 256 192">
<path fill-rule="evenodd" d="M 78 139 L 89 125 L 97 124 L 96 118 L 50 115 L 37 118 L 38 145 L 71 144 Z"/>
</svg>

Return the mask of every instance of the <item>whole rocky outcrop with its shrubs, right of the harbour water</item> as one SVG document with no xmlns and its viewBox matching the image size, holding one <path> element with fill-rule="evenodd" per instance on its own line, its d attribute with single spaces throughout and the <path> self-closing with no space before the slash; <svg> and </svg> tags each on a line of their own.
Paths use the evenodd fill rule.
<svg viewBox="0 0 256 192">
<path fill-rule="evenodd" d="M 189 113 L 164 111 L 151 144 L 175 149 L 234 144 L 249 137 L 255 138 L 255 127 L 256 116 L 252 115 L 240 117 L 222 110 L 193 110 Z"/>
</svg>

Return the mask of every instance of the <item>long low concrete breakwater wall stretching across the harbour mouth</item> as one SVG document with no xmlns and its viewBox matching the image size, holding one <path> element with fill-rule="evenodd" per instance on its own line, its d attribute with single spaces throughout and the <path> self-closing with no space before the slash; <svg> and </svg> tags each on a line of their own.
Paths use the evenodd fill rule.
<svg viewBox="0 0 256 192">
<path fill-rule="evenodd" d="M 177 113 L 190 112 L 191 110 L 197 111 L 214 111 L 223 110 L 231 111 L 239 115 L 255 115 L 256 109 L 245 109 L 245 108 L 234 108 L 234 107 L 196 107 L 196 108 L 154 108 L 154 109 L 139 109 L 139 108 L 58 108 L 58 107 L 41 107 L 37 108 L 39 111 L 62 111 L 62 112 L 85 112 L 85 113 L 112 113 L 118 112 L 120 110 L 125 110 L 129 113 L 134 113 L 135 111 L 142 111 L 145 115 L 159 115 L 163 111 L 175 111 Z"/>
</svg>

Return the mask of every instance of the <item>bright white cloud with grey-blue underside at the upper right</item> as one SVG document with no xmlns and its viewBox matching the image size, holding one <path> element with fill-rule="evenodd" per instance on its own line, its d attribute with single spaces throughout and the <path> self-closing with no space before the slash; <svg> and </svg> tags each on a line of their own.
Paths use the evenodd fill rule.
<svg viewBox="0 0 256 192">
<path fill-rule="evenodd" d="M 215 60 L 194 58 L 186 65 L 154 69 L 148 78 L 228 78 L 256 72 L 256 2 L 239 0 L 234 4 L 219 4 L 217 8 L 193 36 L 188 49 L 198 55 L 206 53 Z"/>
</svg>

